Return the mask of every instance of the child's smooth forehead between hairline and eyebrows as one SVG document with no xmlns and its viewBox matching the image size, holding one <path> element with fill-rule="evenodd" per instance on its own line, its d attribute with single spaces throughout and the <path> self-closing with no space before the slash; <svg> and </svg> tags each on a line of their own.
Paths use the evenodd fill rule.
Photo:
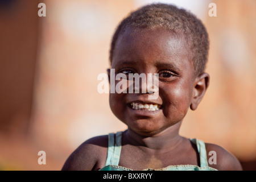
<svg viewBox="0 0 256 182">
<path fill-rule="evenodd" d="M 146 64 L 154 64 L 155 61 L 171 61 L 181 64 L 189 61 L 190 51 L 183 34 L 156 29 L 132 30 L 127 28 L 119 35 L 115 44 L 112 67 L 121 64 L 122 61 L 134 61 Z"/>
</svg>

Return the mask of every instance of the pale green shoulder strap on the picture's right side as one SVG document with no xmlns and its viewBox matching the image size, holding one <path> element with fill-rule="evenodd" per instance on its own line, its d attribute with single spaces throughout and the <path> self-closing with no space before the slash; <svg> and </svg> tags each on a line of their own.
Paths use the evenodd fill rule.
<svg viewBox="0 0 256 182">
<path fill-rule="evenodd" d="M 196 144 L 197 151 L 199 152 L 200 167 L 208 167 L 207 151 L 205 148 L 205 143 L 202 140 L 199 140 L 196 138 L 191 139 L 191 141 Z"/>
</svg>

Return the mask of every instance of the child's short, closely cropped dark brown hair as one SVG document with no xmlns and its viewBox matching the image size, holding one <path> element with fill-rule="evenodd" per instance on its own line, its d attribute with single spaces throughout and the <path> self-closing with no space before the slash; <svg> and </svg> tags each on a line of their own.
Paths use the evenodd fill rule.
<svg viewBox="0 0 256 182">
<path fill-rule="evenodd" d="M 115 43 L 126 28 L 135 30 L 136 28 L 152 29 L 158 27 L 185 35 L 185 40 L 191 48 L 191 59 L 196 75 L 203 73 L 209 52 L 209 36 L 204 24 L 189 11 L 163 3 L 143 6 L 131 12 L 119 23 L 112 38 L 110 63 L 112 63 Z"/>
</svg>

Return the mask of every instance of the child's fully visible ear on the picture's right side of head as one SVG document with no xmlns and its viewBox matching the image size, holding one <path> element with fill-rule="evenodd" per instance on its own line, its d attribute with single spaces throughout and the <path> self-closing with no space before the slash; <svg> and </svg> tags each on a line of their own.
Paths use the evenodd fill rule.
<svg viewBox="0 0 256 182">
<path fill-rule="evenodd" d="M 190 105 L 192 110 L 196 110 L 197 106 L 204 97 L 204 94 L 209 86 L 210 76 L 208 73 L 202 73 L 196 77 L 193 85 L 193 98 Z"/>
</svg>

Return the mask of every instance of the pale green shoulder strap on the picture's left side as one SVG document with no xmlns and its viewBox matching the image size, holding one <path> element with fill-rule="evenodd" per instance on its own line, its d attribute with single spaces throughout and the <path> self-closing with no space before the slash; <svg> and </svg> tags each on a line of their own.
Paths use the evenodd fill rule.
<svg viewBox="0 0 256 182">
<path fill-rule="evenodd" d="M 116 134 L 110 133 L 108 142 L 108 155 L 106 159 L 106 166 L 116 165 L 118 166 L 121 148 L 122 148 L 122 131 L 117 132 Z"/>
</svg>

